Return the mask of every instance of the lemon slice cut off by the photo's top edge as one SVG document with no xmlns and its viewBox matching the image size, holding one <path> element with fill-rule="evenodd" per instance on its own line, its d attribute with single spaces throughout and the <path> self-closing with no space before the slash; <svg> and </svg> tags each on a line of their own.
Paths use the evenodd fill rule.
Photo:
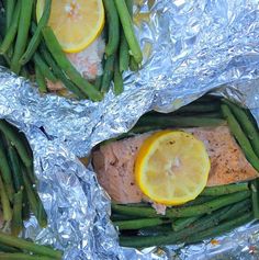
<svg viewBox="0 0 259 260">
<path fill-rule="evenodd" d="M 36 15 L 41 19 L 45 0 L 37 0 Z M 102 32 L 102 0 L 54 0 L 48 25 L 66 53 L 79 53 Z"/>
</svg>

